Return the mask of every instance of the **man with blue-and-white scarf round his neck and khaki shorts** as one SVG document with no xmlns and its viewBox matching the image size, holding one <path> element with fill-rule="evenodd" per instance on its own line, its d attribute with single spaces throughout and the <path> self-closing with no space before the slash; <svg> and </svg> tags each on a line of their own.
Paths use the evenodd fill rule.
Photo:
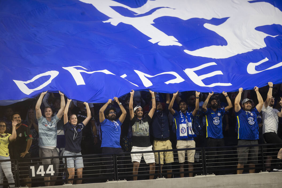
<svg viewBox="0 0 282 188">
<path fill-rule="evenodd" d="M 173 115 L 174 121 L 175 121 L 175 127 L 173 126 L 173 129 L 176 133 L 177 138 L 177 149 L 182 148 L 195 148 L 195 141 L 193 140 L 193 137 L 196 137 L 192 130 L 192 119 L 197 114 L 197 111 L 199 110 L 199 95 L 200 92 L 196 91 L 196 104 L 195 109 L 192 113 L 189 113 L 187 111 L 187 103 L 184 100 L 179 101 L 179 109 L 180 111 L 173 110 L 172 106 L 175 101 L 175 98 L 178 95 L 178 91 L 173 94 L 173 97 L 169 103 L 168 110 Z M 188 171 L 193 171 L 193 163 L 195 158 L 195 150 L 183 150 L 183 151 L 177 151 L 178 153 L 178 160 L 180 163 L 180 177 L 184 177 L 184 162 L 185 162 L 185 154 L 187 154 L 187 161 L 188 161 Z M 182 173 L 181 173 L 182 172 Z M 193 173 L 189 173 L 189 177 L 193 177 Z"/>
</svg>

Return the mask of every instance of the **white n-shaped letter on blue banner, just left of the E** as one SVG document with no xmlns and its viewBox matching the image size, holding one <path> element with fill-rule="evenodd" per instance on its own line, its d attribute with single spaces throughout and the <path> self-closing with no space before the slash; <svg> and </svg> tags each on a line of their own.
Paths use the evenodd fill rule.
<svg viewBox="0 0 282 188">
<path fill-rule="evenodd" d="M 175 79 L 171 79 L 171 80 L 169 80 L 169 81 L 164 82 L 165 84 L 169 84 L 169 83 L 180 83 L 180 82 L 185 81 L 185 80 L 184 80 L 183 78 L 181 78 L 181 76 L 179 76 L 179 74 L 177 74 L 176 72 L 162 72 L 162 73 L 160 73 L 160 74 L 156 74 L 156 75 L 154 75 L 154 76 L 151 76 L 151 75 L 145 74 L 144 72 L 141 72 L 141 71 L 139 71 L 139 70 L 134 70 L 134 71 L 138 74 L 139 78 L 141 79 L 141 81 L 143 82 L 143 84 L 144 84 L 145 87 L 150 87 L 151 85 L 153 85 L 152 82 L 151 82 L 148 78 L 146 78 L 146 77 L 152 78 L 152 77 L 155 77 L 155 76 L 158 76 L 158 75 L 162 75 L 162 74 L 172 74 L 173 76 L 176 77 Z"/>
</svg>

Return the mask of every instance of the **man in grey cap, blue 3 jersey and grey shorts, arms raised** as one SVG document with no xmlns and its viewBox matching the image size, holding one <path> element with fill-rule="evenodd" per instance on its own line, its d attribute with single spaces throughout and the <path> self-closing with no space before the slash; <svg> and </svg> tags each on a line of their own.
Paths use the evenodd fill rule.
<svg viewBox="0 0 282 188">
<path fill-rule="evenodd" d="M 238 120 L 238 146 L 239 145 L 255 145 L 258 144 L 259 139 L 259 125 L 257 123 L 257 116 L 263 107 L 263 98 L 259 93 L 259 88 L 254 87 L 254 90 L 257 94 L 258 104 L 252 109 L 252 101 L 248 98 L 242 101 L 242 107 L 240 106 L 241 95 L 243 88 L 239 88 L 239 93 L 235 98 L 235 107 L 236 117 Z M 247 164 L 248 159 L 249 167 L 255 168 L 255 163 L 258 159 L 258 147 L 238 147 L 238 165 L 237 165 L 237 174 L 242 174 L 244 164 Z M 248 158 L 249 157 L 249 158 Z M 254 173 L 255 169 L 249 169 L 249 173 Z"/>
</svg>

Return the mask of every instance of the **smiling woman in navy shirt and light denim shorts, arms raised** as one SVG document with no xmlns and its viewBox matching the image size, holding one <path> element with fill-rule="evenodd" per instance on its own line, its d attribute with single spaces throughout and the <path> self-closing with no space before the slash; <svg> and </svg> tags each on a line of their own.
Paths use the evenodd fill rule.
<svg viewBox="0 0 282 188">
<path fill-rule="evenodd" d="M 82 138 L 82 129 L 85 128 L 85 125 L 91 119 L 91 112 L 88 106 L 88 103 L 84 102 L 86 106 L 87 117 L 81 123 L 77 122 L 76 114 L 71 114 L 68 117 L 68 110 L 71 99 L 67 99 L 67 104 L 64 110 L 64 132 L 66 137 L 66 147 L 63 156 L 73 156 L 81 155 L 81 138 Z M 74 171 L 78 178 L 82 178 L 82 169 L 83 169 L 83 159 L 82 157 L 69 157 L 67 158 L 67 168 L 69 172 L 69 179 L 74 178 Z M 75 169 L 75 170 L 74 170 Z M 69 183 L 73 181 L 70 180 Z M 82 180 L 77 180 L 76 184 L 81 184 Z"/>
</svg>

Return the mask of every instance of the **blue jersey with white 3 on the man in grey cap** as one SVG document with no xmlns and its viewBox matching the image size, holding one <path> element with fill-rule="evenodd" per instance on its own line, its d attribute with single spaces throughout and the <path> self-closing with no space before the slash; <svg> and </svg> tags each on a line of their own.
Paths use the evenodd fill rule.
<svg viewBox="0 0 282 188">
<path fill-rule="evenodd" d="M 238 121 L 238 139 L 259 139 L 259 125 L 257 123 L 258 115 L 259 112 L 256 107 L 251 111 L 241 109 L 239 112 L 236 112 L 236 118 Z"/>
</svg>

